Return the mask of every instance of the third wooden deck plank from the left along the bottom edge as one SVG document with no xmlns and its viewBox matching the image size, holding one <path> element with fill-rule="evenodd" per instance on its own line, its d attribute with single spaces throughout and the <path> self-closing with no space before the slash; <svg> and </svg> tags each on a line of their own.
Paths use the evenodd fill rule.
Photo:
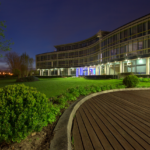
<svg viewBox="0 0 150 150">
<path fill-rule="evenodd" d="M 86 130 L 88 132 L 88 135 L 92 141 L 92 145 L 94 147 L 94 150 L 104 150 L 103 146 L 101 145 L 101 142 L 97 138 L 97 135 L 95 134 L 95 131 L 93 130 L 93 127 L 91 126 L 87 116 L 85 115 L 84 111 L 82 108 L 79 109 L 79 112 L 81 114 L 81 118 L 84 122 L 84 125 L 86 127 Z"/>
</svg>

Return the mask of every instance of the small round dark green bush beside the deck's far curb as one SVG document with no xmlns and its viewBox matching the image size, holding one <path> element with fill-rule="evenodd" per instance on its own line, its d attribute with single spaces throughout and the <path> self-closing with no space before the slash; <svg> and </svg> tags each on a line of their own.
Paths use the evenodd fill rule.
<svg viewBox="0 0 150 150">
<path fill-rule="evenodd" d="M 129 87 L 135 87 L 139 83 L 139 78 L 135 75 L 128 75 L 123 79 L 123 84 Z"/>
</svg>

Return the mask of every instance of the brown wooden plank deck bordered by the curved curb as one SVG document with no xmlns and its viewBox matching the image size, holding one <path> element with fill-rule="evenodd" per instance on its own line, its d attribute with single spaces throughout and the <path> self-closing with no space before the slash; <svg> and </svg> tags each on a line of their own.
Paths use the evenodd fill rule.
<svg viewBox="0 0 150 150">
<path fill-rule="evenodd" d="M 101 94 L 73 121 L 75 150 L 150 150 L 150 90 Z"/>
</svg>

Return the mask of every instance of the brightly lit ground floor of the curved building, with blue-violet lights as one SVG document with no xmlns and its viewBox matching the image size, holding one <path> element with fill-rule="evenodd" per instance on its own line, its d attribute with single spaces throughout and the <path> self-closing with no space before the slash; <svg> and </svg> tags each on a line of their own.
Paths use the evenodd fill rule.
<svg viewBox="0 0 150 150">
<path fill-rule="evenodd" d="M 37 69 L 40 76 L 85 76 L 85 75 L 117 75 L 118 73 L 133 72 L 134 74 L 150 74 L 150 58 L 115 61 L 101 65 Z"/>
</svg>

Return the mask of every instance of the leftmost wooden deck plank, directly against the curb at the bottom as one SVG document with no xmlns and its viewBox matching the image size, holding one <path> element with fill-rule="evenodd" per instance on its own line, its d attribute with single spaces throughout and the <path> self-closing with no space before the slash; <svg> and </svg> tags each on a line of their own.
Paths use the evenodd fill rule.
<svg viewBox="0 0 150 150">
<path fill-rule="evenodd" d="M 78 125 L 76 117 L 73 121 L 73 138 L 74 138 L 74 147 L 75 150 L 84 150 L 83 144 L 82 144 L 82 138 L 79 133 Z"/>
</svg>

